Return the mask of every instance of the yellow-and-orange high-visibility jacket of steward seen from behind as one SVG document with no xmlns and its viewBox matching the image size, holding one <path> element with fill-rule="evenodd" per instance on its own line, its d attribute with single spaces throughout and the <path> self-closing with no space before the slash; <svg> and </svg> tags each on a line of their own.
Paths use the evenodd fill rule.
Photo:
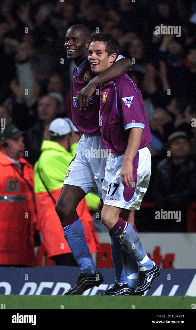
<svg viewBox="0 0 196 330">
<path fill-rule="evenodd" d="M 54 200 L 57 201 L 69 163 L 75 156 L 76 146 L 76 143 L 73 144 L 71 152 L 68 152 L 57 142 L 45 140 L 41 147 L 42 154 L 34 166 L 35 198 L 38 215 L 37 229 L 41 232 L 43 244 L 49 257 L 71 253 L 71 250 L 64 238 L 63 228 L 55 211 L 54 202 L 42 180 Z M 38 174 L 38 169 L 42 180 Z M 76 211 L 82 221 L 90 253 L 98 252 L 100 250 L 99 240 L 85 199 L 82 199 Z"/>
</svg>

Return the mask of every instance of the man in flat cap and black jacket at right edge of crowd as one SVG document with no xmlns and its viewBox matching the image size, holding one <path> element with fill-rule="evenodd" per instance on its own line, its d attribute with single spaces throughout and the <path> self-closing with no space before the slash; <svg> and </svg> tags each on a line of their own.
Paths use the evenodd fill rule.
<svg viewBox="0 0 196 330">
<path fill-rule="evenodd" d="M 168 157 L 157 166 L 154 181 L 156 231 L 186 231 L 186 206 L 196 201 L 196 162 L 185 132 L 168 137 Z"/>
</svg>

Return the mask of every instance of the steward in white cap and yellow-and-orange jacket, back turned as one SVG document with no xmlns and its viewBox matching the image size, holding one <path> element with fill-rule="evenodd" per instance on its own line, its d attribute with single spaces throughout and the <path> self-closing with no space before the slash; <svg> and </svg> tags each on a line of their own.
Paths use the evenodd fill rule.
<svg viewBox="0 0 196 330">
<path fill-rule="evenodd" d="M 72 124 L 73 126 L 73 124 Z M 77 266 L 55 212 L 69 163 L 76 154 L 80 133 L 66 118 L 57 118 L 49 126 L 51 141 L 43 141 L 41 156 L 34 166 L 35 195 L 38 210 L 38 229 L 48 256 L 56 265 Z M 91 194 L 92 195 L 92 194 Z M 98 237 L 93 227 L 85 199 L 79 203 L 80 215 L 90 253 L 99 251 Z"/>
</svg>

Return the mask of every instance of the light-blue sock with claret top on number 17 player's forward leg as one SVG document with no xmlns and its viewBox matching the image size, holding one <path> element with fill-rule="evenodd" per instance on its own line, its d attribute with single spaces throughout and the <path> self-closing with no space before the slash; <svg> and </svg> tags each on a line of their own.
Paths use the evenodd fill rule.
<svg viewBox="0 0 196 330">
<path fill-rule="evenodd" d="M 110 230 L 110 235 L 118 238 L 120 244 L 130 252 L 136 261 L 142 267 L 147 269 L 153 268 L 152 261 L 148 258 L 141 242 L 133 227 L 119 218 L 114 227 Z"/>
</svg>

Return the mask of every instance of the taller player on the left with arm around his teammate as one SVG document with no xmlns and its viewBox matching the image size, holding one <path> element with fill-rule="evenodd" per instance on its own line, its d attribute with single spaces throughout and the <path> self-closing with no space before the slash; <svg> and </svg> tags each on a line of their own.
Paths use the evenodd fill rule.
<svg viewBox="0 0 196 330">
<path fill-rule="evenodd" d="M 82 136 L 77 146 L 76 157 L 65 176 L 55 210 L 61 220 L 64 236 L 81 271 L 77 283 L 66 292 L 72 295 L 81 294 L 88 288 L 99 286 L 103 282 L 102 275 L 89 253 L 82 223 L 76 212 L 79 202 L 89 191 L 98 191 L 99 197 L 102 198 L 101 186 L 105 175 L 106 157 L 93 158 L 86 152 L 91 148 L 104 151 L 99 127 L 99 89 L 96 91 L 95 89 L 101 83 L 128 72 L 132 67 L 131 60 L 120 56 L 113 67 L 99 76 L 94 75 L 87 58 L 89 37 L 89 29 L 82 24 L 71 26 L 65 37 L 67 58 L 73 59 L 76 64 L 72 82 L 72 121 L 82 132 Z M 89 82 L 87 90 L 90 92 L 86 94 L 87 96 L 80 95 L 82 88 Z M 104 153 L 100 152 L 100 154 Z M 120 266 L 119 277 L 121 273 L 122 266 Z M 126 276 L 124 277 L 126 279 Z"/>
</svg>

